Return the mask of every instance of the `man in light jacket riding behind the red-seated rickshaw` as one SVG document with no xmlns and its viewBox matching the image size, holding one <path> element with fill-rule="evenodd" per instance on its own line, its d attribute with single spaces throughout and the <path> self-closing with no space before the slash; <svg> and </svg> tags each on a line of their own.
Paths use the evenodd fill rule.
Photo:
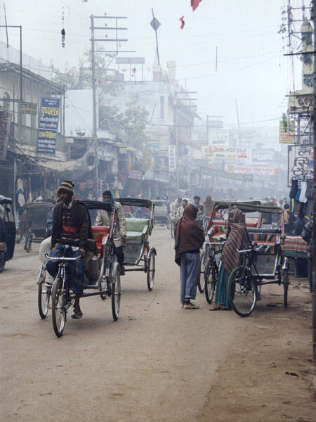
<svg viewBox="0 0 316 422">
<path fill-rule="evenodd" d="M 120 203 L 115 202 L 110 191 L 103 192 L 104 202 L 110 202 L 114 205 L 117 214 L 117 231 L 115 238 L 117 241 L 114 241 L 114 253 L 117 256 L 117 262 L 119 262 L 119 275 L 124 276 L 124 252 L 123 244 L 126 241 L 126 220 L 124 215 L 123 207 Z M 109 213 L 105 210 L 98 210 L 98 215 L 96 217 L 96 226 L 110 226 L 112 224 L 112 212 Z"/>
</svg>

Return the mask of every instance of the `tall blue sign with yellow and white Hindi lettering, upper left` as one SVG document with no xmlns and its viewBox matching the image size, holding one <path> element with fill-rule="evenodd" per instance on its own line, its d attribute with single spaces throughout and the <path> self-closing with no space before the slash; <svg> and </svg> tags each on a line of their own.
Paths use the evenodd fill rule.
<svg viewBox="0 0 316 422">
<path fill-rule="evenodd" d="M 55 155 L 59 114 L 59 98 L 41 98 L 39 129 L 37 130 L 38 153 Z"/>
</svg>

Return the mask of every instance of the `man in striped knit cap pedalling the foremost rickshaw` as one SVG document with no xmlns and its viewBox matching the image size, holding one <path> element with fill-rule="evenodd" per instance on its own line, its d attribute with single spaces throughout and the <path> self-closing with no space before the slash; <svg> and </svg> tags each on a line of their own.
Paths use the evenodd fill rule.
<svg viewBox="0 0 316 422">
<path fill-rule="evenodd" d="M 92 238 L 91 219 L 86 205 L 80 200 L 73 199 L 74 184 L 71 181 L 63 181 L 60 184 L 57 195 L 61 201 L 55 205 L 53 212 L 53 227 L 51 234 L 52 251 L 50 257 L 77 257 L 77 260 L 67 264 L 67 275 L 71 290 L 76 293 L 74 300 L 74 314 L 72 318 L 82 318 L 79 300 L 84 290 L 84 255 L 86 242 Z M 70 245 L 66 249 L 66 246 Z M 48 260 L 46 269 L 55 277 L 58 274 L 58 262 Z"/>
</svg>

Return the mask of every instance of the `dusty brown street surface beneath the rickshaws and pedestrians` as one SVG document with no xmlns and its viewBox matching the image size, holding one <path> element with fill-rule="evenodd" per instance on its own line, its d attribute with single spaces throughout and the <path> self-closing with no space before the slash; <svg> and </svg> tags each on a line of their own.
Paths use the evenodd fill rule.
<svg viewBox="0 0 316 422">
<path fill-rule="evenodd" d="M 61 338 L 37 310 L 39 245 L 16 245 L 0 274 L 1 421 L 315 421 L 307 280 L 291 277 L 288 309 L 273 285 L 249 318 L 200 293 L 185 310 L 170 232 L 155 226 L 150 245 L 154 289 L 126 273 L 119 319 L 110 298 L 84 298 Z"/>
</svg>

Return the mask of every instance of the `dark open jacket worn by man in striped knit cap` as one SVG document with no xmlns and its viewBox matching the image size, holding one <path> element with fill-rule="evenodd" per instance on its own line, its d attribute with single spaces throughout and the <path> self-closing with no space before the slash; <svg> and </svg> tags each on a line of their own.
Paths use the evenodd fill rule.
<svg viewBox="0 0 316 422">
<path fill-rule="evenodd" d="M 62 231 L 62 208 L 64 203 L 60 201 L 55 205 L 53 212 L 53 227 L 51 233 L 51 247 L 53 248 Z M 88 209 L 80 200 L 72 202 L 72 218 L 74 226 L 79 231 L 79 247 L 86 249 L 86 241 L 92 238 L 91 219 Z M 71 243 L 70 243 L 71 244 Z"/>
</svg>

